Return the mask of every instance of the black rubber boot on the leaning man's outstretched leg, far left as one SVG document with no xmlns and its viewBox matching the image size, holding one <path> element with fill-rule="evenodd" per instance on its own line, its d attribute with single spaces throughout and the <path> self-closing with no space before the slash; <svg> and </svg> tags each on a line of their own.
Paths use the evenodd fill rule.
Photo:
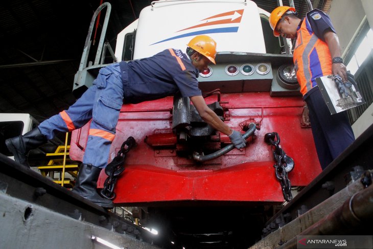
<svg viewBox="0 0 373 249">
<path fill-rule="evenodd" d="M 16 162 L 30 167 L 27 161 L 29 151 L 45 144 L 46 141 L 48 141 L 46 137 L 36 127 L 25 135 L 18 135 L 17 137 L 7 139 L 5 144 L 9 151 L 13 153 Z"/>
</svg>

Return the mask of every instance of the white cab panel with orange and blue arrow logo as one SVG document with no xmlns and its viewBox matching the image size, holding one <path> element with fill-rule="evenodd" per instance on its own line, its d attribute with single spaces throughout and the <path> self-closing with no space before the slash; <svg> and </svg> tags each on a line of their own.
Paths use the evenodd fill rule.
<svg viewBox="0 0 373 249">
<path fill-rule="evenodd" d="M 265 53 L 258 7 L 247 1 L 155 3 L 139 15 L 134 58 L 182 49 L 198 34 L 217 41 L 217 51 Z"/>
</svg>

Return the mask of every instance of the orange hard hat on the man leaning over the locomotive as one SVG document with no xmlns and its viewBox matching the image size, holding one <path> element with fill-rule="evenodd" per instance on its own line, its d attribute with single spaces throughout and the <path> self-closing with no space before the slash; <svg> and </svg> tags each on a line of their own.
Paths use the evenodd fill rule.
<svg viewBox="0 0 373 249">
<path fill-rule="evenodd" d="M 216 41 L 213 38 L 207 35 L 197 35 L 188 43 L 187 46 L 216 64 Z"/>
</svg>

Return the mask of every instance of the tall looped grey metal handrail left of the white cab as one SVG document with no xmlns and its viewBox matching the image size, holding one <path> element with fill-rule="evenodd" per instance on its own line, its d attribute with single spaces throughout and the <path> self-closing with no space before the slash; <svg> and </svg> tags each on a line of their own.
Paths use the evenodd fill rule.
<svg viewBox="0 0 373 249">
<path fill-rule="evenodd" d="M 94 28 L 94 25 L 95 25 L 95 20 L 96 20 L 96 17 L 98 16 L 98 14 L 101 12 L 101 10 L 103 10 L 105 7 L 107 7 L 107 10 L 106 10 L 106 14 L 105 14 L 104 24 L 102 26 L 100 41 L 99 41 L 99 44 L 98 44 L 94 64 L 97 65 L 100 62 L 100 57 L 101 57 L 102 48 L 103 48 L 103 44 L 104 44 L 104 38 L 105 38 L 105 34 L 106 34 L 107 24 L 109 22 L 109 16 L 110 16 L 110 12 L 111 12 L 111 5 L 109 3 L 103 3 L 102 5 L 100 5 L 99 8 L 97 8 L 97 10 L 95 11 L 94 15 L 92 16 L 92 19 L 91 19 L 90 25 L 89 25 L 89 29 L 88 29 L 88 35 L 87 35 L 87 38 L 85 39 L 82 59 L 80 60 L 79 71 L 82 71 L 83 69 L 85 69 L 85 67 L 87 65 L 88 54 L 89 54 L 89 49 L 90 49 L 90 44 L 91 44 L 90 38 L 91 38 L 92 31 L 93 31 L 93 28 Z"/>
</svg>

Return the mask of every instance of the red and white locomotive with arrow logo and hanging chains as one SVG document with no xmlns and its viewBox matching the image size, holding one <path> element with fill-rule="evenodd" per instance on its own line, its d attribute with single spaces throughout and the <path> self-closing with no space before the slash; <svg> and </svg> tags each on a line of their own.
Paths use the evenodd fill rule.
<svg viewBox="0 0 373 249">
<path fill-rule="evenodd" d="M 88 62 L 94 22 L 105 8 L 95 61 Z M 284 53 L 288 42 L 273 36 L 270 13 L 248 0 L 160 0 L 118 34 L 113 52 L 104 43 L 110 8 L 104 3 L 92 17 L 74 93 L 107 65 L 106 51 L 113 61 L 136 60 L 185 51 L 193 36 L 206 34 L 217 41 L 217 64 L 200 73 L 199 88 L 247 145 L 233 148 L 188 98 L 125 103 L 108 159 L 121 156 L 116 166 L 124 171 L 103 170 L 98 188 L 114 182 L 107 197 L 133 207 L 133 216 L 170 248 L 247 248 L 261 238 L 265 221 L 321 172 L 292 56 Z M 88 129 L 89 123 L 72 134 L 73 160 L 83 159 Z"/>
</svg>

